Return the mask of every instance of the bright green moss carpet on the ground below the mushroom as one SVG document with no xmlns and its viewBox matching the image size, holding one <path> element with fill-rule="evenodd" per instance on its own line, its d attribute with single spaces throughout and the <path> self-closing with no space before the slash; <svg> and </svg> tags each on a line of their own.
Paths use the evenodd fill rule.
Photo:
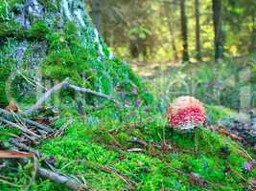
<svg viewBox="0 0 256 191">
<path fill-rule="evenodd" d="M 136 190 L 244 190 L 244 181 L 232 172 L 226 174 L 226 167 L 231 167 L 246 180 L 256 176 L 255 170 L 244 174 L 244 163 L 250 159 L 242 146 L 230 138 L 200 127 L 196 154 L 194 134 L 172 133 L 166 119 L 157 113 L 126 111 L 119 117 L 110 117 L 106 116 L 108 110 L 86 116 L 84 123 L 74 115 L 61 117 L 55 123 L 57 128 L 69 119 L 74 122 L 60 138 L 43 141 L 37 149 L 46 157 L 54 157 L 60 172 L 86 180 L 87 185 L 96 190 L 128 190 L 131 187 Z M 143 148 L 130 142 L 133 138 L 151 142 L 151 146 Z M 164 141 L 170 150 L 161 148 Z M 142 151 L 131 152 L 129 148 L 141 148 Z M 222 154 L 223 148 L 230 155 Z M 113 171 L 105 172 L 106 167 Z M 33 161 L 20 167 L 13 182 L 26 185 L 33 169 Z M 206 180 L 207 187 L 190 180 L 187 174 L 191 172 Z M 12 177 L 13 173 L 7 175 Z M 4 184 L 0 188 L 6 190 L 8 186 Z M 39 179 L 32 184 L 31 190 L 67 189 Z"/>
</svg>

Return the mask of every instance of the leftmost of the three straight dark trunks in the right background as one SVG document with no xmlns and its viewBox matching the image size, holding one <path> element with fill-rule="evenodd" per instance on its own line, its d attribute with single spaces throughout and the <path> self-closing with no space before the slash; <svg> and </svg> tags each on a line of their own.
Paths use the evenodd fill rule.
<svg viewBox="0 0 256 191">
<path fill-rule="evenodd" d="M 180 22 L 181 22 L 181 35 L 183 41 L 183 62 L 189 61 L 189 50 L 188 50 L 188 25 L 187 15 L 185 8 L 185 0 L 180 0 Z"/>
</svg>

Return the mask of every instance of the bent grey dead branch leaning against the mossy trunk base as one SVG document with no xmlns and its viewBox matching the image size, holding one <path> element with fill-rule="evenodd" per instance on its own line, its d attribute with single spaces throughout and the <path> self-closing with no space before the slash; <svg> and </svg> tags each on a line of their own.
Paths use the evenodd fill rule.
<svg viewBox="0 0 256 191">
<path fill-rule="evenodd" d="M 49 89 L 48 91 L 46 91 L 35 103 L 34 106 L 32 106 L 31 108 L 29 108 L 28 110 L 26 110 L 24 112 L 25 115 L 31 115 L 32 113 L 38 111 L 41 107 L 42 104 L 45 102 L 45 100 L 47 100 L 50 96 L 52 96 L 52 94 L 54 94 L 55 92 L 63 89 L 63 88 L 69 88 L 72 89 L 76 92 L 80 92 L 80 93 L 84 93 L 84 94 L 90 94 L 90 95 L 94 95 L 94 96 L 99 96 L 102 98 L 105 98 L 106 100 L 112 101 L 113 103 L 115 103 L 118 107 L 122 108 L 122 104 L 119 103 L 117 100 L 113 99 L 111 96 L 107 96 L 103 93 L 99 93 L 99 92 L 95 92 L 92 91 L 90 89 L 86 89 L 86 88 L 82 88 L 79 86 L 75 86 L 72 85 L 68 82 L 68 78 L 65 79 L 64 81 L 62 81 L 61 83 L 55 85 L 54 87 L 52 87 L 51 89 Z"/>
</svg>

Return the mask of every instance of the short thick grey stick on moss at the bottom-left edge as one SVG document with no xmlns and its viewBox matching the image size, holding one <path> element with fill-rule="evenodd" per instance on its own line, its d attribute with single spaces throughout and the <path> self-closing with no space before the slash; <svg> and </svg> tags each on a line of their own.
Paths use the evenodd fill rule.
<svg viewBox="0 0 256 191">
<path fill-rule="evenodd" d="M 76 190 L 76 191 L 88 190 L 87 186 L 81 183 L 79 180 L 72 179 L 65 175 L 60 175 L 56 172 L 47 170 L 45 168 L 38 168 L 37 174 L 42 178 L 46 178 L 56 183 L 63 184 L 71 190 Z"/>
</svg>

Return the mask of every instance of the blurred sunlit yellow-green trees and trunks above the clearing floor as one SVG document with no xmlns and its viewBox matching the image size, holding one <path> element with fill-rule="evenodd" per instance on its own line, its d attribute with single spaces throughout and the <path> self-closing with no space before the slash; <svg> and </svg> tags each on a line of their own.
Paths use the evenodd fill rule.
<svg viewBox="0 0 256 191">
<path fill-rule="evenodd" d="M 209 61 L 256 49 L 254 0 L 94 0 L 91 5 L 108 46 L 127 59 Z"/>
</svg>

